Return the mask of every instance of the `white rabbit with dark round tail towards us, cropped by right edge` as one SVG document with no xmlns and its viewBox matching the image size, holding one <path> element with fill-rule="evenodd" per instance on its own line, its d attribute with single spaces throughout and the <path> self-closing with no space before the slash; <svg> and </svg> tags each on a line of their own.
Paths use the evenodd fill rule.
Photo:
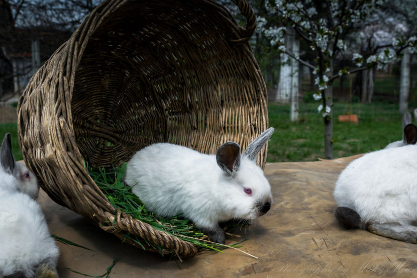
<svg viewBox="0 0 417 278">
<path fill-rule="evenodd" d="M 334 191 L 336 218 L 347 229 L 417 242 L 417 145 L 382 149 L 352 161 Z"/>
</svg>

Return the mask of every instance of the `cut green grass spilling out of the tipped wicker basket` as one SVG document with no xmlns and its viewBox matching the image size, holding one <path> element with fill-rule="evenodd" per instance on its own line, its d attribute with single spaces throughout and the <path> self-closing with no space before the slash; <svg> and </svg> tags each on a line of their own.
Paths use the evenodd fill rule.
<svg viewBox="0 0 417 278">
<path fill-rule="evenodd" d="M 204 241 L 204 234 L 188 219 L 181 219 L 178 216 L 163 218 L 147 211 L 138 196 L 132 193 L 131 187 L 126 186 L 123 182 L 126 163 L 121 167 L 106 169 L 102 167 L 93 168 L 87 165 L 87 169 L 95 184 L 97 184 L 101 192 L 109 199 L 114 208 L 120 209 L 122 212 L 131 215 L 133 218 L 151 225 L 155 230 L 165 231 L 168 234 L 196 245 L 198 248 L 216 251 L 225 248 L 222 244 Z M 109 225 L 111 224 L 112 223 L 109 223 Z M 135 241 L 143 247 L 141 241 L 136 236 L 126 234 L 125 237 Z M 158 246 L 153 242 L 146 242 L 146 244 L 159 250 L 161 253 L 163 251 L 161 246 Z M 232 246 L 241 247 L 236 245 Z"/>
</svg>

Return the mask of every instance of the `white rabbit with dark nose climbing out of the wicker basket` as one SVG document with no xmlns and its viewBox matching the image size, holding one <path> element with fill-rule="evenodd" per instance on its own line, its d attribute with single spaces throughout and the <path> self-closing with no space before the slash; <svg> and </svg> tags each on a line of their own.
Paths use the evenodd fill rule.
<svg viewBox="0 0 417 278">
<path fill-rule="evenodd" d="M 235 142 L 216 155 L 169 143 L 147 146 L 127 163 L 125 183 L 148 210 L 164 217 L 183 213 L 211 241 L 224 243 L 219 222 L 250 222 L 271 208 L 271 188 L 256 157 L 273 131 L 262 133 L 243 155 Z"/>
</svg>

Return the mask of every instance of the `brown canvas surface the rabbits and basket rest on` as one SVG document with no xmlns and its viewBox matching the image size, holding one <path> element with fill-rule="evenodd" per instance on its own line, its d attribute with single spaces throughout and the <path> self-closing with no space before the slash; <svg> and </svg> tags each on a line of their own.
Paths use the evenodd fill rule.
<svg viewBox="0 0 417 278">
<path fill-rule="evenodd" d="M 334 217 L 335 181 L 355 157 L 315 162 L 268 163 L 271 210 L 233 234 L 247 238 L 242 250 L 203 251 L 182 262 L 123 244 L 41 192 L 51 233 L 92 249 L 58 243 L 61 278 L 82 277 L 70 269 L 110 277 L 414 277 L 417 245 L 340 228 Z M 233 244 L 242 238 L 228 236 Z"/>
</svg>

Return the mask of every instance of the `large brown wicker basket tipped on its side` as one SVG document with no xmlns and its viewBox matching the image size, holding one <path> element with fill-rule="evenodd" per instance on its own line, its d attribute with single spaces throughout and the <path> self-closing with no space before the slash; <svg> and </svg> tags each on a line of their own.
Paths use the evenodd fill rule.
<svg viewBox="0 0 417 278">
<path fill-rule="evenodd" d="M 266 88 L 248 43 L 256 21 L 245 0 L 233 2 L 245 28 L 211 0 L 105 1 L 34 74 L 18 105 L 19 144 L 55 202 L 121 239 L 131 233 L 166 253 L 196 254 L 116 211 L 83 159 L 118 165 L 155 142 L 214 153 L 230 140 L 245 149 L 267 128 Z M 266 149 L 261 166 L 265 159 Z"/>
</svg>

